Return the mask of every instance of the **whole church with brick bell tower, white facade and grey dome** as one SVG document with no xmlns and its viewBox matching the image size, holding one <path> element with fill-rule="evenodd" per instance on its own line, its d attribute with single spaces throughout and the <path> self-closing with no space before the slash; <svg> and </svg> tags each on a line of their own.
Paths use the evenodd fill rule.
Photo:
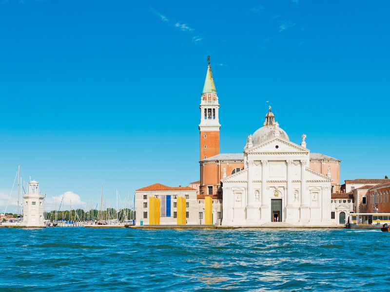
<svg viewBox="0 0 390 292">
<path fill-rule="evenodd" d="M 310 153 L 305 134 L 300 145 L 290 141 L 275 121 L 271 106 L 262 127 L 248 136 L 241 153 L 219 153 L 219 101 L 210 59 L 199 108 L 198 199 L 201 202 L 210 196 L 213 209 L 222 209 L 221 220 L 215 223 L 332 225 L 331 193 L 340 190 L 340 160 Z"/>
</svg>

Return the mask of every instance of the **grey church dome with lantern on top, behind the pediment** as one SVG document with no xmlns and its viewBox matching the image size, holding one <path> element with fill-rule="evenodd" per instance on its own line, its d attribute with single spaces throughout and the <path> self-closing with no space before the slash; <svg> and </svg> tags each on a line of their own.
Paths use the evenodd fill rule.
<svg viewBox="0 0 390 292">
<path fill-rule="evenodd" d="M 261 144 L 272 139 L 273 137 L 280 137 L 290 141 L 287 133 L 282 128 L 279 128 L 278 122 L 275 122 L 275 116 L 271 112 L 270 106 L 269 112 L 267 112 L 267 115 L 265 116 L 263 127 L 257 129 L 252 135 L 252 143 L 254 145 Z"/>
</svg>

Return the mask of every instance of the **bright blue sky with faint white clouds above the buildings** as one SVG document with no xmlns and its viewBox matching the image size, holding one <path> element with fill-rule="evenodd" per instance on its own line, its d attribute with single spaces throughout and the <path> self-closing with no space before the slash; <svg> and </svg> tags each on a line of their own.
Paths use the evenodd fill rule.
<svg viewBox="0 0 390 292">
<path fill-rule="evenodd" d="M 389 1 L 0 0 L 0 212 L 18 164 L 82 208 L 198 180 L 207 55 L 221 153 L 269 100 L 342 182 L 390 176 L 389 36 Z"/>
</svg>

